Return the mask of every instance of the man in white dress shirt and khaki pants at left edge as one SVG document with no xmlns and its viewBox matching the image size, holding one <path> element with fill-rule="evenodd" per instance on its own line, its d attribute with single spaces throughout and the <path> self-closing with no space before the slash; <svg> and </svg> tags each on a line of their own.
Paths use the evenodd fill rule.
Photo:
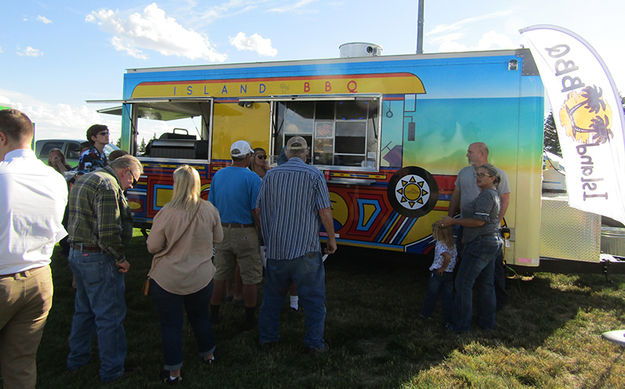
<svg viewBox="0 0 625 389">
<path fill-rule="evenodd" d="M 50 256 L 67 184 L 30 149 L 33 124 L 0 110 L 0 374 L 4 388 L 34 388 L 37 348 L 52 306 Z"/>
</svg>

